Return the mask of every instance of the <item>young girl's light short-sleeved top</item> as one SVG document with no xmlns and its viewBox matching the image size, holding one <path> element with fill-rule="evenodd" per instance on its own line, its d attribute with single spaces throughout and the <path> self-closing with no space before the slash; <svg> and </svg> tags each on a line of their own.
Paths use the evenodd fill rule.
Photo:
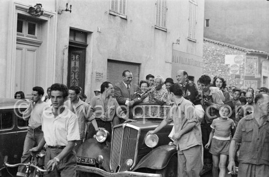
<svg viewBox="0 0 269 177">
<path fill-rule="evenodd" d="M 230 139 L 230 129 L 233 129 L 235 126 L 234 121 L 231 118 L 226 120 L 220 120 L 220 118 L 215 118 L 212 121 L 210 127 L 215 129 L 214 137 L 220 140 L 229 140 Z"/>
</svg>

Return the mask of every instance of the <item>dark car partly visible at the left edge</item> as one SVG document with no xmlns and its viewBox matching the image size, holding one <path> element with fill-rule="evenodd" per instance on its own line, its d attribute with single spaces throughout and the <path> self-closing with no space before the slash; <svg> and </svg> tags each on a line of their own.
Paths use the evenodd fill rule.
<svg viewBox="0 0 269 177">
<path fill-rule="evenodd" d="M 0 98 L 0 170 L 5 156 L 10 164 L 21 162 L 28 125 L 22 112 L 27 104 L 21 99 Z"/>
</svg>

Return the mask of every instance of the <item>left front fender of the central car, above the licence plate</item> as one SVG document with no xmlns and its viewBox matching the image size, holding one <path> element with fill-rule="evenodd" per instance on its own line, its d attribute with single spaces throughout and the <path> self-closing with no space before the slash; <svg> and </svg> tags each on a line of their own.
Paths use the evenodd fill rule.
<svg viewBox="0 0 269 177">
<path fill-rule="evenodd" d="M 77 157 L 88 157 L 88 158 L 95 158 L 95 159 L 98 155 L 102 155 L 104 157 L 102 168 L 110 172 L 110 167 L 109 167 L 110 151 L 111 151 L 110 142 L 105 141 L 105 142 L 100 143 L 96 140 L 96 138 L 90 138 L 79 146 L 76 154 L 77 154 Z"/>
</svg>

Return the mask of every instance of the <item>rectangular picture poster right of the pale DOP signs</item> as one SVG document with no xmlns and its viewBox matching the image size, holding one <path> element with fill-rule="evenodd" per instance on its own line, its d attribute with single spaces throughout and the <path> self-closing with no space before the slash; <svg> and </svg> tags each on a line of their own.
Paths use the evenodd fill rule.
<svg viewBox="0 0 269 177">
<path fill-rule="evenodd" d="M 258 57 L 246 56 L 245 76 L 255 76 L 258 73 Z"/>
</svg>

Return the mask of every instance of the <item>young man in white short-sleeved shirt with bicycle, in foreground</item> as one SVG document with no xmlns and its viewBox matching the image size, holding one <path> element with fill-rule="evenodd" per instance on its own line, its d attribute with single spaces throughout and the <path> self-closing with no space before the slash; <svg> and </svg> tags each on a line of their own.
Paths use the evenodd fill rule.
<svg viewBox="0 0 269 177">
<path fill-rule="evenodd" d="M 78 118 L 64 102 L 67 100 L 68 90 L 64 84 L 51 85 L 52 106 L 45 108 L 42 115 L 42 130 L 44 137 L 35 148 L 39 151 L 47 144 L 45 168 L 52 167 L 52 172 L 46 177 L 75 177 L 76 154 L 75 141 L 80 140 Z"/>
</svg>

